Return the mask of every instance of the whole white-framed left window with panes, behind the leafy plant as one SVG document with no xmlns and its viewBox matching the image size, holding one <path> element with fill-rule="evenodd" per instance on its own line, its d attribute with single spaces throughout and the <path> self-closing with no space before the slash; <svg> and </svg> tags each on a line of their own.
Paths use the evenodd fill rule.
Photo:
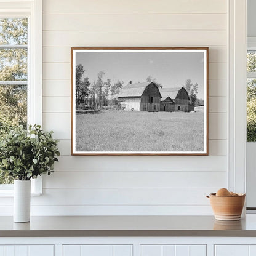
<svg viewBox="0 0 256 256">
<path fill-rule="evenodd" d="M 34 54 L 36 52 L 36 54 Z M 0 136 L 42 124 L 42 0 L 0 0 Z M 0 193 L 12 190 L 0 174 Z M 41 179 L 34 180 L 41 193 Z"/>
</svg>

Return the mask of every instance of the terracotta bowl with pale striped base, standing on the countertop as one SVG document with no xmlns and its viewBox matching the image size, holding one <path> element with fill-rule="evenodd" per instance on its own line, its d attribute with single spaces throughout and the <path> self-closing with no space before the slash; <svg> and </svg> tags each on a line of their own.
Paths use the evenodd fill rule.
<svg viewBox="0 0 256 256">
<path fill-rule="evenodd" d="M 216 220 L 240 220 L 246 194 L 239 196 L 209 196 Z"/>
</svg>

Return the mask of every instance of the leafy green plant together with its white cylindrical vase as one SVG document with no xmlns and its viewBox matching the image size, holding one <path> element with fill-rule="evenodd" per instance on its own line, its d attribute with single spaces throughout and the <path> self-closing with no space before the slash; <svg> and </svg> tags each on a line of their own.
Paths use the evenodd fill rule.
<svg viewBox="0 0 256 256">
<path fill-rule="evenodd" d="M 0 142 L 0 170 L 14 178 L 14 222 L 30 221 L 31 178 L 50 175 L 60 152 L 53 132 L 41 126 L 18 126 L 4 135 Z"/>
</svg>

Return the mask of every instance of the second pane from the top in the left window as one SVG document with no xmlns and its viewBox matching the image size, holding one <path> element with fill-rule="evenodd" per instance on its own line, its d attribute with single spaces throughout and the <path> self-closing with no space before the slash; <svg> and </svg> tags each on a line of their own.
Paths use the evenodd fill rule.
<svg viewBox="0 0 256 256">
<path fill-rule="evenodd" d="M 0 81 L 26 81 L 28 79 L 28 50 L 0 49 Z"/>
</svg>

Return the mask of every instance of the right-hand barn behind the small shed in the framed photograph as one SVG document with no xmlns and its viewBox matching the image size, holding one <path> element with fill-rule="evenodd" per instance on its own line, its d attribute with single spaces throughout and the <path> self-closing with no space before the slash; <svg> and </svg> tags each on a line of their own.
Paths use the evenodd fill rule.
<svg viewBox="0 0 256 256">
<path fill-rule="evenodd" d="M 174 111 L 190 111 L 188 105 L 190 103 L 190 97 L 188 96 L 188 92 L 184 87 L 178 88 L 162 88 L 160 89 L 160 93 L 162 95 L 162 99 L 166 99 L 170 97 L 174 102 Z M 161 104 L 165 104 L 161 102 Z"/>
</svg>

